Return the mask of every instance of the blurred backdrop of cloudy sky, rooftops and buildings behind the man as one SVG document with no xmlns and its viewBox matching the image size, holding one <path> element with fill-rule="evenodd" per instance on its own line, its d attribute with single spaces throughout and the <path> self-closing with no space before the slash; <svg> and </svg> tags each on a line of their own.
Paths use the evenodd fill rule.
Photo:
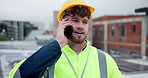
<svg viewBox="0 0 148 78">
<path fill-rule="evenodd" d="M 0 78 L 55 39 L 64 1 L 0 0 Z M 91 44 L 115 59 L 124 78 L 148 77 L 148 1 L 86 1 L 96 8 L 87 36 Z"/>
</svg>

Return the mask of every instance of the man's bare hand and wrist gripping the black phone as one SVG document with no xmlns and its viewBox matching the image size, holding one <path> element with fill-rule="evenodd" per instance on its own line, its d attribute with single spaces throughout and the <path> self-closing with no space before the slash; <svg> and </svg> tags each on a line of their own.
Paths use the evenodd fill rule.
<svg viewBox="0 0 148 78">
<path fill-rule="evenodd" d="M 56 40 L 59 43 L 61 48 L 64 47 L 68 42 L 68 39 L 64 35 L 65 28 L 69 25 L 72 25 L 72 23 L 68 20 L 69 20 L 69 17 L 62 19 L 62 21 L 59 22 L 58 24 Z"/>
</svg>

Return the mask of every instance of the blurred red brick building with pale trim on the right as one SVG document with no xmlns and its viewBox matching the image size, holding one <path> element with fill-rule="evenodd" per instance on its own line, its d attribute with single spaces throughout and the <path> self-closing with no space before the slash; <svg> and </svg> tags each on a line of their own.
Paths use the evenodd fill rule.
<svg viewBox="0 0 148 78">
<path fill-rule="evenodd" d="M 93 45 L 108 52 L 148 56 L 144 15 L 102 16 L 93 19 Z"/>
</svg>

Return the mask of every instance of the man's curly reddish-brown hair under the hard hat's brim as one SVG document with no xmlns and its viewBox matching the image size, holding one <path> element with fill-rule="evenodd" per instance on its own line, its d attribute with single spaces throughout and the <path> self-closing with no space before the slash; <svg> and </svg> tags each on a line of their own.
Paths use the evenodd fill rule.
<svg viewBox="0 0 148 78">
<path fill-rule="evenodd" d="M 89 19 L 91 16 L 91 12 L 87 7 L 79 5 L 79 6 L 74 6 L 69 9 L 66 9 L 63 12 L 61 18 L 64 19 L 67 16 L 76 16 L 76 15 L 78 15 L 80 17 L 88 17 L 88 19 Z"/>
</svg>

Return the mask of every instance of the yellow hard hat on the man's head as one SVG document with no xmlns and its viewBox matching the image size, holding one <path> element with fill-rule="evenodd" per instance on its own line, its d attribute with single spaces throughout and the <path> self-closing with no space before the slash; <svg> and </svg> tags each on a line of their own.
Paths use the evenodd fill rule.
<svg viewBox="0 0 148 78">
<path fill-rule="evenodd" d="M 91 12 L 91 15 L 92 13 L 95 11 L 95 8 L 92 7 L 92 6 L 89 6 L 87 5 L 87 3 L 84 1 L 84 0 L 67 0 L 63 6 L 62 6 L 62 9 L 59 11 L 58 13 L 58 16 L 57 16 L 57 19 L 58 21 L 60 22 L 61 21 L 61 15 L 62 13 L 64 12 L 64 10 L 68 9 L 68 8 L 71 8 L 71 7 L 74 7 L 76 5 L 82 5 L 82 6 L 86 6 L 88 7 L 88 9 L 90 10 Z"/>
</svg>

